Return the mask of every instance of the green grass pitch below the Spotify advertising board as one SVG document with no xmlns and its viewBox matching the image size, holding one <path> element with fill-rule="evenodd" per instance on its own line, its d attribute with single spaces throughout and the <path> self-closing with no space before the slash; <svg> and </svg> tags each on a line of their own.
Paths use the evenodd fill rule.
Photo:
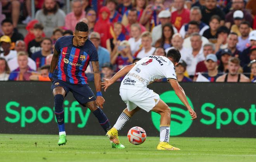
<svg viewBox="0 0 256 162">
<path fill-rule="evenodd" d="M 159 137 L 147 137 L 132 145 L 120 137 L 125 149 L 112 149 L 106 136 L 67 136 L 57 145 L 58 135 L 0 134 L 1 162 L 256 162 L 255 138 L 171 137 L 180 151 L 156 150 Z"/>
</svg>

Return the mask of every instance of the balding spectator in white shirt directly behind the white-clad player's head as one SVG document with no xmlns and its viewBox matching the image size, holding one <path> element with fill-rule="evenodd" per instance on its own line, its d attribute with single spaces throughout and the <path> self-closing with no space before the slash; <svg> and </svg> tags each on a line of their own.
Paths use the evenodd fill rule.
<svg viewBox="0 0 256 162">
<path fill-rule="evenodd" d="M 165 49 L 165 52 L 167 53 L 170 49 L 176 48 L 180 51 L 180 54 L 182 56 L 181 59 L 184 59 L 183 56 L 186 56 L 187 53 L 191 53 L 192 49 L 183 47 L 183 38 L 181 34 L 176 33 L 173 35 L 173 38 L 171 39 L 171 44 L 173 45 L 171 48 Z"/>
</svg>

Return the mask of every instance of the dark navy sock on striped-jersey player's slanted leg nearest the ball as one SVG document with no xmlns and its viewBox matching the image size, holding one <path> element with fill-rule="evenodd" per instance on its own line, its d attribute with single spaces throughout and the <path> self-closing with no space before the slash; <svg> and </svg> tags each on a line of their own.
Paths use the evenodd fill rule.
<svg viewBox="0 0 256 162">
<path fill-rule="evenodd" d="M 103 113 L 100 107 L 98 107 L 98 109 L 93 111 L 92 113 L 96 118 L 98 118 L 100 125 L 102 126 L 104 131 L 107 133 L 107 131 L 109 131 L 111 128 L 109 119 L 107 119 L 107 116 Z"/>
</svg>

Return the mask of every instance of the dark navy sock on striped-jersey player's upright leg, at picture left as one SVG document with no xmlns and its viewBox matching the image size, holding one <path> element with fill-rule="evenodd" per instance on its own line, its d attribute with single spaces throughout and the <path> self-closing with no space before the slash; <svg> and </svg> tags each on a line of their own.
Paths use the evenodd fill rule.
<svg viewBox="0 0 256 162">
<path fill-rule="evenodd" d="M 64 124 L 63 102 L 64 102 L 63 95 L 56 94 L 54 96 L 54 109 L 55 109 L 55 116 L 56 116 L 58 127 L 59 127 L 59 135 L 61 134 L 66 135 L 65 124 Z"/>
</svg>

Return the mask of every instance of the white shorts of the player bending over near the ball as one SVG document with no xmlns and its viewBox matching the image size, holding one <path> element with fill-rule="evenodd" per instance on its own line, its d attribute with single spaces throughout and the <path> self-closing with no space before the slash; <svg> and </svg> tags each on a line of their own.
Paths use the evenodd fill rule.
<svg viewBox="0 0 256 162">
<path fill-rule="evenodd" d="M 137 106 L 149 112 L 159 102 L 160 97 L 153 90 L 120 89 L 120 96 L 126 103 L 128 111 L 132 111 Z"/>
</svg>

